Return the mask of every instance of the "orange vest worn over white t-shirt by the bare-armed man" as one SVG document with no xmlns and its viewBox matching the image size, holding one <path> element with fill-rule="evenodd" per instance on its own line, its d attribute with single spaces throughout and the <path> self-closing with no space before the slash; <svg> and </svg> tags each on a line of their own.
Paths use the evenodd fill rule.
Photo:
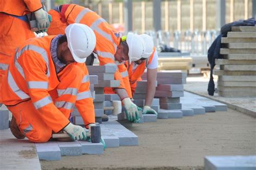
<svg viewBox="0 0 256 170">
<path fill-rule="evenodd" d="M 156 52 L 156 47 L 154 47 L 154 50 L 153 50 L 151 56 L 149 57 L 149 59 L 145 60 L 142 64 L 138 65 L 135 70 L 133 70 L 132 64 L 129 65 L 128 62 L 125 63 L 127 70 L 128 70 L 128 74 L 129 74 L 129 80 L 130 80 L 132 94 L 134 93 L 134 91 L 137 87 L 137 81 L 142 80 L 141 77 L 146 69 L 146 65 L 150 64 L 152 62 L 155 52 Z"/>
</svg>

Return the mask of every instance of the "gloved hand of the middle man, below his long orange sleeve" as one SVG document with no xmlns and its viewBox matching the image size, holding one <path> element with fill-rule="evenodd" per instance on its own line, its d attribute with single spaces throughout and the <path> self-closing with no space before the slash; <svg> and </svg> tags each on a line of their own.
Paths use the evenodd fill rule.
<svg viewBox="0 0 256 170">
<path fill-rule="evenodd" d="M 127 119 L 133 123 L 138 123 L 138 120 L 139 120 L 138 106 L 132 103 L 130 98 L 124 98 L 122 102 L 125 107 L 125 114 Z"/>
</svg>

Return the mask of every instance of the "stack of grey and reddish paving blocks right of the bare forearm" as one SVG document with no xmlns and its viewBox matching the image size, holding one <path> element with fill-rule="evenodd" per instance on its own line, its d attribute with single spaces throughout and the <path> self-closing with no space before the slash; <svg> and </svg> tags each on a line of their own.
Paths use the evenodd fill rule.
<svg viewBox="0 0 256 170">
<path fill-rule="evenodd" d="M 142 76 L 146 79 L 146 73 Z M 183 84 L 186 83 L 186 73 L 180 71 L 158 72 L 156 93 L 159 98 L 160 110 L 158 119 L 182 118 L 180 97 L 184 96 Z"/>
</svg>

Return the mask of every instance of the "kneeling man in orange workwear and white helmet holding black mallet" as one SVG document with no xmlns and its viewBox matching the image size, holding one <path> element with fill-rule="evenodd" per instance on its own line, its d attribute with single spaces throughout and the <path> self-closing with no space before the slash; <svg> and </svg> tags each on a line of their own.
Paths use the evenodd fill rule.
<svg viewBox="0 0 256 170">
<path fill-rule="evenodd" d="M 3 77 L 3 103 L 13 117 L 18 139 L 46 142 L 64 130 L 73 140 L 86 132 L 69 121 L 74 105 L 85 127 L 95 126 L 90 81 L 84 64 L 95 49 L 96 37 L 84 24 L 71 24 L 65 35 L 31 38 L 19 46 Z"/>
</svg>

